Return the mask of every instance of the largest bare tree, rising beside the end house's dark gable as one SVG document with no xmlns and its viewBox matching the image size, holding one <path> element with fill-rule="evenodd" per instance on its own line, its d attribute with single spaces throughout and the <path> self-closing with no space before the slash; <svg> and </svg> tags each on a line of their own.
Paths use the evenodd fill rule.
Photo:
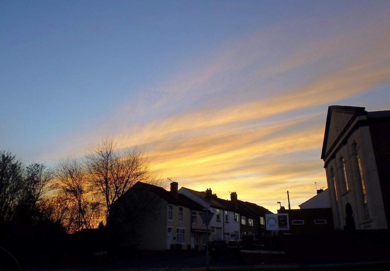
<svg viewBox="0 0 390 271">
<path fill-rule="evenodd" d="M 102 140 L 85 156 L 89 183 L 104 198 L 106 218 L 115 200 L 137 181 L 160 185 L 156 173 L 150 169 L 144 150 L 133 147 L 117 151 L 113 139 Z"/>
</svg>

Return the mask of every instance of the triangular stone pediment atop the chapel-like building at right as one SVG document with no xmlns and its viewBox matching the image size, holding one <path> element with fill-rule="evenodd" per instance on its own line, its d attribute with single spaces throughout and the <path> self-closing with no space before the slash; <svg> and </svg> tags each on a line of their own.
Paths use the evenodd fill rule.
<svg viewBox="0 0 390 271">
<path fill-rule="evenodd" d="M 332 105 L 328 108 L 326 117 L 325 135 L 321 159 L 331 149 L 333 143 L 339 138 L 344 129 L 356 115 L 365 112 L 365 107 Z"/>
</svg>

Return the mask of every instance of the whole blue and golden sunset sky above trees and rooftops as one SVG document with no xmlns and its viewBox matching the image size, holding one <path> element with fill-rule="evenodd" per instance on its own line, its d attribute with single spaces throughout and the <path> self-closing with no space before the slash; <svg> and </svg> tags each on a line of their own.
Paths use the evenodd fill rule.
<svg viewBox="0 0 390 271">
<path fill-rule="evenodd" d="M 1 1 L 0 149 L 140 146 L 163 179 L 276 212 L 326 188 L 330 105 L 390 110 L 388 1 Z M 168 180 L 167 180 L 168 184 Z"/>
</svg>

